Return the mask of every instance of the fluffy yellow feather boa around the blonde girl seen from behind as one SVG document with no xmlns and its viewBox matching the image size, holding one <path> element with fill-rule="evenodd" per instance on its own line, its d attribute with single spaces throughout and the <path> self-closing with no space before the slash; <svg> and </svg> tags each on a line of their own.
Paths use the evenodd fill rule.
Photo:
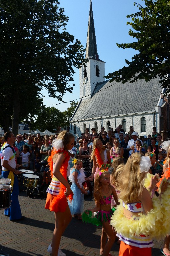
<svg viewBox="0 0 170 256">
<path fill-rule="evenodd" d="M 148 178 L 150 179 L 150 175 Z M 145 235 L 157 240 L 170 234 L 170 186 L 161 194 L 161 199 L 156 196 L 153 197 L 153 209 L 146 215 L 139 213 L 138 216 L 127 219 L 124 215 L 122 200 L 120 201 L 120 205 L 116 207 L 117 209 L 111 218 L 111 225 L 116 232 L 125 237 Z"/>
</svg>

